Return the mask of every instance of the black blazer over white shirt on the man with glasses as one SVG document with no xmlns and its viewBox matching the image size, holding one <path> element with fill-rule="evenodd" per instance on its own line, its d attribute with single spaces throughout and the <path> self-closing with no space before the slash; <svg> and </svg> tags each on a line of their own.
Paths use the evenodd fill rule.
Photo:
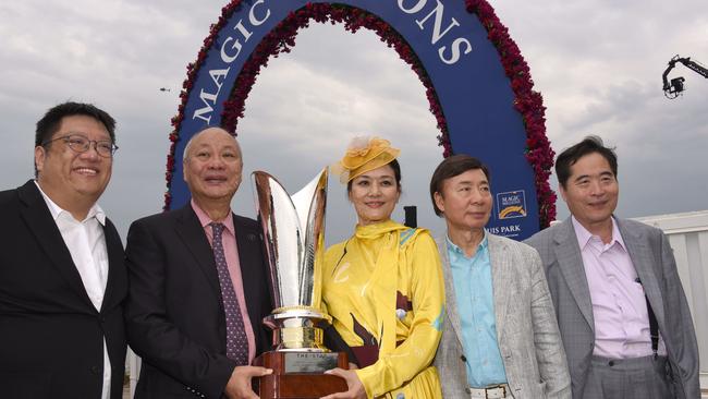
<svg viewBox="0 0 708 399">
<path fill-rule="evenodd" d="M 0 192 L 0 397 L 100 398 L 103 338 L 111 398 L 123 391 L 127 291 L 123 245 L 106 219 L 108 282 L 100 312 L 30 180 Z"/>
</svg>

